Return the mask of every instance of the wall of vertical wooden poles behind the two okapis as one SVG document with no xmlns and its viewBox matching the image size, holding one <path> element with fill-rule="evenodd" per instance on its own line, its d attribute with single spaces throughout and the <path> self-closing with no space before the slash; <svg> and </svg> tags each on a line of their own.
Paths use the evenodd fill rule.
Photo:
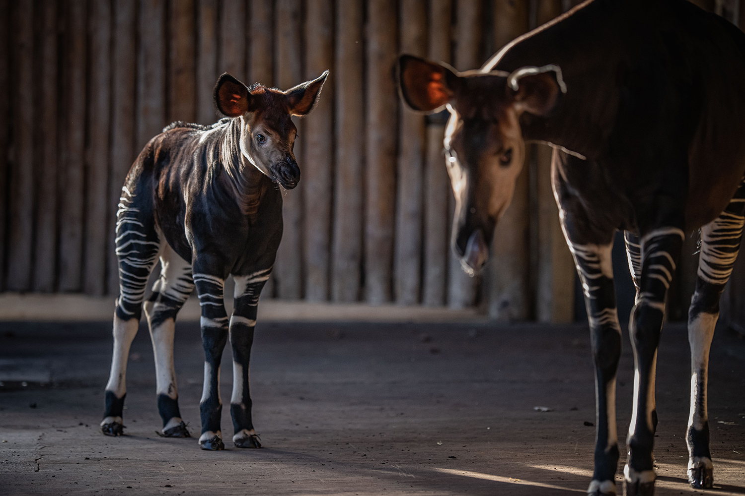
<svg viewBox="0 0 745 496">
<path fill-rule="evenodd" d="M 737 0 L 696 0 L 743 22 Z M 302 180 L 264 297 L 481 305 L 572 318 L 550 152 L 532 146 L 483 277 L 449 249 L 443 115 L 402 106 L 399 53 L 477 68 L 574 0 L 0 0 L 0 291 L 116 294 L 113 220 L 142 146 L 218 119 L 228 71 L 286 89 L 331 71 L 297 119 Z M 682 264 L 682 314 L 695 264 Z M 681 316 L 681 315 L 678 315 Z"/>
</svg>

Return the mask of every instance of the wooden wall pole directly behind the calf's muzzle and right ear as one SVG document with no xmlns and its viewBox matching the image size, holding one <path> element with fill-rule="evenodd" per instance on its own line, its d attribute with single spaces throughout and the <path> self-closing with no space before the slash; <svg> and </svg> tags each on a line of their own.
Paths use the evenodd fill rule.
<svg viewBox="0 0 745 496">
<path fill-rule="evenodd" d="M 276 84 L 288 89 L 302 83 L 302 4 L 300 0 L 278 0 L 275 24 Z M 295 121 L 298 138 L 295 155 L 302 157 L 303 126 Z M 300 164 L 302 167 L 302 164 Z M 302 168 L 301 168 L 302 171 Z M 302 176 L 301 176 L 302 177 Z M 274 281 L 277 296 L 286 300 L 302 297 L 302 190 L 304 181 L 291 191 L 283 192 L 282 216 L 285 230 L 277 251 Z"/>
</svg>

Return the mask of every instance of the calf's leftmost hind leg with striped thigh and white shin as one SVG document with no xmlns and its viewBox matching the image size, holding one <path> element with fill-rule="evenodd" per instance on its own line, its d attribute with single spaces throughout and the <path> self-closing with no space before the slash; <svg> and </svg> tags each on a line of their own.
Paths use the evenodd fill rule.
<svg viewBox="0 0 745 496">
<path fill-rule="evenodd" d="M 142 215 L 136 196 L 124 187 L 116 213 L 116 255 L 119 260 L 119 297 L 114 313 L 114 352 L 106 385 L 101 430 L 108 436 L 124 434 L 122 412 L 127 396 L 127 357 L 142 315 L 142 300 L 150 271 L 160 251 L 152 219 Z"/>
</svg>

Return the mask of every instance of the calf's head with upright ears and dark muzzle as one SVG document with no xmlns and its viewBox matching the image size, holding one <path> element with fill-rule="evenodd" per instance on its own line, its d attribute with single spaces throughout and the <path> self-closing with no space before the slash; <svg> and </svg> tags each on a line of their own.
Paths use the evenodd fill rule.
<svg viewBox="0 0 745 496">
<path fill-rule="evenodd" d="M 215 85 L 215 104 L 227 117 L 241 117 L 241 152 L 262 173 L 291 190 L 300 181 L 293 146 L 293 115 L 313 110 L 329 71 L 287 91 L 259 84 L 248 88 L 230 74 Z"/>
</svg>

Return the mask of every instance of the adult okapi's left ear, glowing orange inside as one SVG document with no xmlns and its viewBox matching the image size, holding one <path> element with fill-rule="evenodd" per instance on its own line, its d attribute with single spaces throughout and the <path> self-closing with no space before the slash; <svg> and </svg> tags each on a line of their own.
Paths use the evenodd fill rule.
<svg viewBox="0 0 745 496">
<path fill-rule="evenodd" d="M 401 97 L 412 110 L 435 112 L 455 94 L 458 76 L 449 65 L 402 55 L 398 69 Z"/>
</svg>

